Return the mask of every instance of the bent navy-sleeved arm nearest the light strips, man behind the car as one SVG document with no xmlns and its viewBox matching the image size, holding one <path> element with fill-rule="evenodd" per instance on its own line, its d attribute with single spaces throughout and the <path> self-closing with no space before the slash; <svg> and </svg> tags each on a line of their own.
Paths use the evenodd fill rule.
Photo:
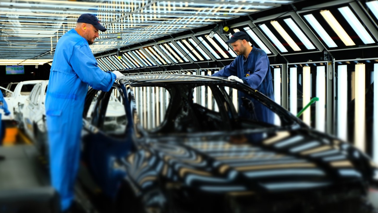
<svg viewBox="0 0 378 213">
<path fill-rule="evenodd" d="M 246 82 L 250 87 L 256 89 L 260 86 L 262 81 L 264 80 L 266 73 L 268 72 L 269 65 L 268 65 L 268 56 L 261 55 L 255 64 L 255 72 L 251 75 L 244 77 L 242 80 Z"/>
</svg>

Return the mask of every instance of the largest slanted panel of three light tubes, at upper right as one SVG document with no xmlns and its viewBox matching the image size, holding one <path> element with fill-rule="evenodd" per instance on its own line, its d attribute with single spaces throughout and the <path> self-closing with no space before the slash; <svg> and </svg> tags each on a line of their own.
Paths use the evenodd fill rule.
<svg viewBox="0 0 378 213">
<path fill-rule="evenodd" d="M 361 17 L 349 4 L 299 15 L 328 50 L 376 46 L 377 41 L 369 27 L 364 25 Z"/>
</svg>

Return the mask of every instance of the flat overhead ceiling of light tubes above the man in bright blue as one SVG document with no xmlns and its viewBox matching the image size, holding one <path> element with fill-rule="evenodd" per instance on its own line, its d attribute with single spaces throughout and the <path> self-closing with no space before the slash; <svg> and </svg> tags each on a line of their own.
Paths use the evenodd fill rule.
<svg viewBox="0 0 378 213">
<path fill-rule="evenodd" d="M 74 28 L 81 14 L 88 12 L 95 14 L 108 28 L 100 32 L 100 37 L 91 45 L 93 54 L 98 54 L 292 2 L 1 0 L 0 57 L 12 59 L 12 52 L 19 49 L 21 59 L 51 61 L 57 40 Z"/>
</svg>

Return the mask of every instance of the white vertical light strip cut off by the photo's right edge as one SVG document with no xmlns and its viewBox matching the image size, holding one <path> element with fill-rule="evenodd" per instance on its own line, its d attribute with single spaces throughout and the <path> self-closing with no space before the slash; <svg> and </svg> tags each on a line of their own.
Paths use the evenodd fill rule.
<svg viewBox="0 0 378 213">
<path fill-rule="evenodd" d="M 374 82 L 377 85 L 378 64 L 374 64 Z M 378 86 L 374 86 L 373 107 L 373 160 L 378 165 Z"/>
</svg>

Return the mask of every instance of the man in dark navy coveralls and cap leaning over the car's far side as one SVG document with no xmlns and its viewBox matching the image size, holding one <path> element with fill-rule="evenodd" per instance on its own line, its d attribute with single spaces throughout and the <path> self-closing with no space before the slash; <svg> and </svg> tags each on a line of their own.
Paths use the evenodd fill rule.
<svg viewBox="0 0 378 213">
<path fill-rule="evenodd" d="M 249 45 L 249 36 L 241 31 L 234 33 L 226 43 L 232 45 L 238 56 L 231 64 L 212 76 L 228 77 L 230 80 L 247 84 L 274 100 L 272 74 L 266 53 L 259 48 L 251 47 Z M 242 114 L 246 114 L 248 110 L 241 106 L 241 95 L 239 94 L 239 114 L 245 117 Z M 257 120 L 273 124 L 273 112 L 259 101 L 253 99 L 252 102 Z"/>
</svg>

